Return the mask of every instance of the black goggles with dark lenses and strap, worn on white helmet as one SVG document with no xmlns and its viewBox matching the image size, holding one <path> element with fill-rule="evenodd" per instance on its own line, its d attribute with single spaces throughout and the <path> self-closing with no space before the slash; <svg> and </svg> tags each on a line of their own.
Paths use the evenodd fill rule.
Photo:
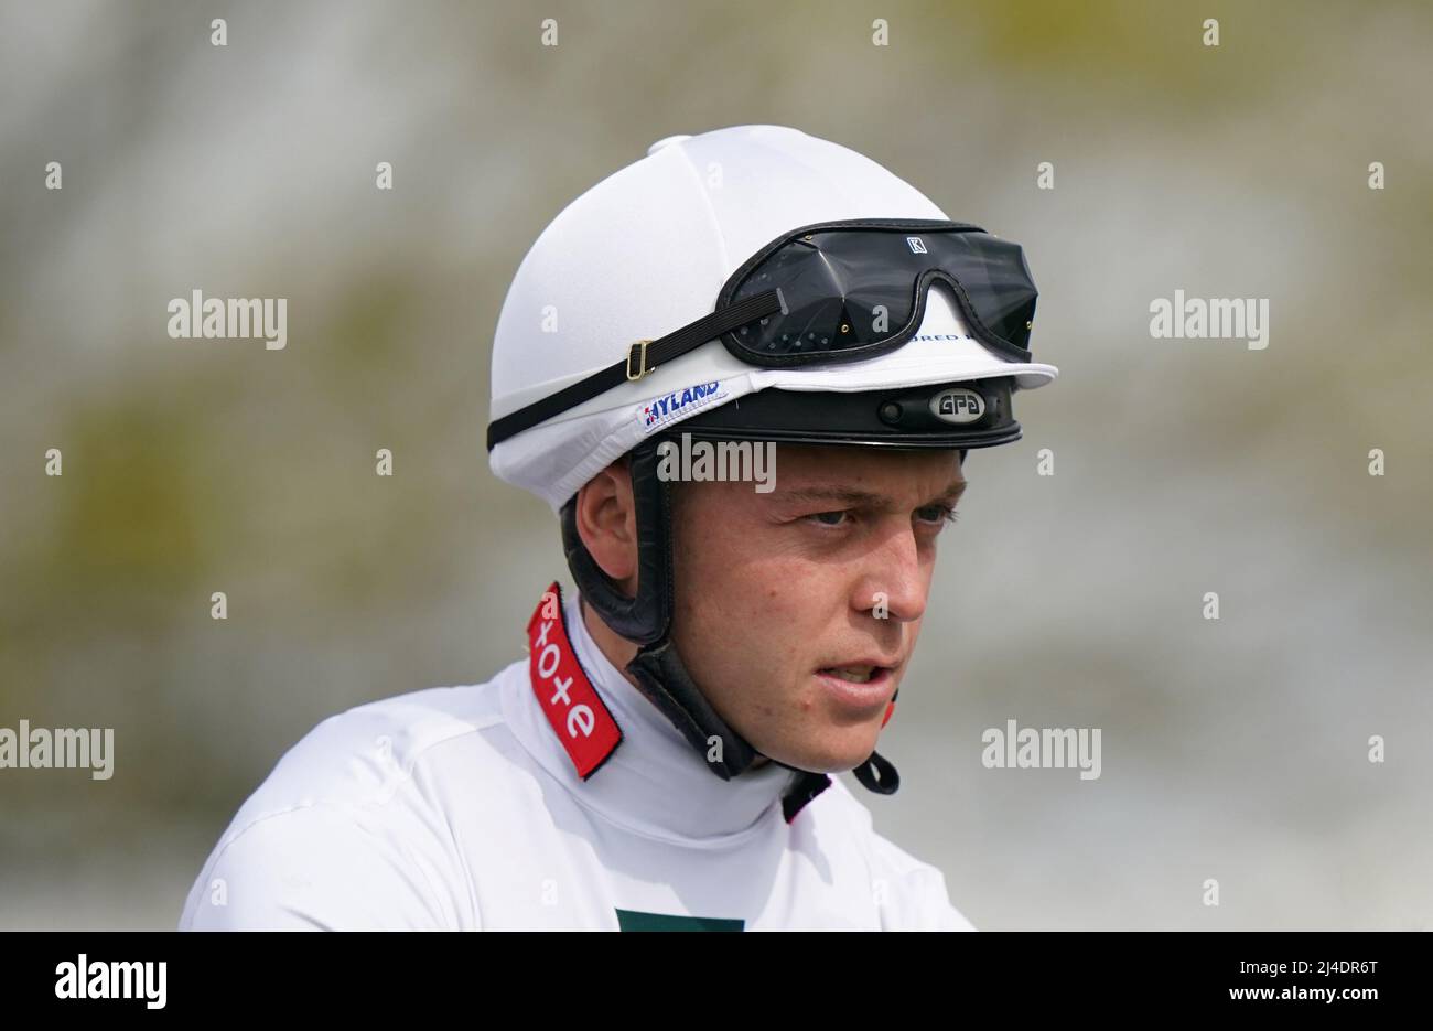
<svg viewBox="0 0 1433 1031">
<path fill-rule="evenodd" d="M 748 258 L 722 285 L 712 314 L 639 340 L 623 361 L 494 419 L 487 449 L 711 340 L 768 369 L 886 354 L 916 334 L 933 282 L 950 287 L 976 340 L 1030 361 L 1037 291 L 1019 244 L 979 225 L 927 218 L 818 222 Z"/>
</svg>

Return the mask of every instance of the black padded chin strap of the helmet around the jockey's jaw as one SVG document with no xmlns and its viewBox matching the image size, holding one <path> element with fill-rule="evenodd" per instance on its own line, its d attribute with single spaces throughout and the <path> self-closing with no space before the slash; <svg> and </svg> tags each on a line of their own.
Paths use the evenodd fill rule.
<svg viewBox="0 0 1433 1031">
<path fill-rule="evenodd" d="M 731 780 L 751 769 L 762 754 L 716 714 L 692 681 L 671 640 L 672 499 L 668 485 L 656 475 L 659 440 L 661 436 L 655 436 L 643 442 L 631 456 L 638 531 L 636 597 L 622 594 L 582 543 L 576 498 L 562 508 L 563 551 L 582 599 L 596 609 L 615 634 L 639 645 L 626 667 L 638 687 L 672 721 L 706 767 L 722 780 Z M 771 761 L 800 774 L 782 797 L 788 822 L 831 784 L 824 773 L 801 770 L 775 759 Z M 853 773 L 864 787 L 878 794 L 891 794 L 900 787 L 896 767 L 876 751 Z"/>
</svg>

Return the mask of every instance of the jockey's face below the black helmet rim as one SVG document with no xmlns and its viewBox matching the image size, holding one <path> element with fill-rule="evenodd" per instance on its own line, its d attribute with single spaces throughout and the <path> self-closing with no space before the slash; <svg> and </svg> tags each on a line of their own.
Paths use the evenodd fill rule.
<svg viewBox="0 0 1433 1031">
<path fill-rule="evenodd" d="M 780 446 L 771 493 L 672 486 L 674 640 L 692 678 L 771 759 L 864 761 L 916 647 L 959 455 Z"/>
</svg>

